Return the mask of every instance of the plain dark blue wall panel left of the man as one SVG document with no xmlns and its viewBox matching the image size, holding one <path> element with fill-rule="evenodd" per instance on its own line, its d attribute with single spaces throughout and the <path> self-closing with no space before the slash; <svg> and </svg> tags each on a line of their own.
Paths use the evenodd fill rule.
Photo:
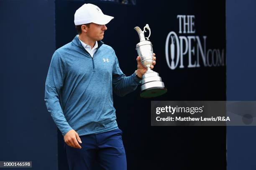
<svg viewBox="0 0 256 170">
<path fill-rule="evenodd" d="M 54 2 L 1 0 L 0 16 L 0 160 L 56 170 L 57 130 L 44 103 L 55 50 Z"/>
</svg>

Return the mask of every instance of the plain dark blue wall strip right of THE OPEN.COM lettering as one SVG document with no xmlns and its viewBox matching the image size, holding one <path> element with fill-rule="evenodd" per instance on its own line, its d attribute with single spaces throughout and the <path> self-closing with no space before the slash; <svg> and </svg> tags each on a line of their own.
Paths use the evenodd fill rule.
<svg viewBox="0 0 256 170">
<path fill-rule="evenodd" d="M 256 100 L 255 9 L 255 0 L 226 1 L 227 100 Z M 255 126 L 227 127 L 228 170 L 255 170 L 255 144 Z"/>
</svg>

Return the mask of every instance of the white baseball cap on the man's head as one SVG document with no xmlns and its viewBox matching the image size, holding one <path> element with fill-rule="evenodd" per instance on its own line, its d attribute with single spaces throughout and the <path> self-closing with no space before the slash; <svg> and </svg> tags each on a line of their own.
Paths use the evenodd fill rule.
<svg viewBox="0 0 256 170">
<path fill-rule="evenodd" d="M 102 13 L 99 7 L 93 4 L 84 4 L 79 7 L 74 14 L 74 24 L 82 25 L 88 23 L 95 23 L 105 25 L 114 17 Z"/>
</svg>

